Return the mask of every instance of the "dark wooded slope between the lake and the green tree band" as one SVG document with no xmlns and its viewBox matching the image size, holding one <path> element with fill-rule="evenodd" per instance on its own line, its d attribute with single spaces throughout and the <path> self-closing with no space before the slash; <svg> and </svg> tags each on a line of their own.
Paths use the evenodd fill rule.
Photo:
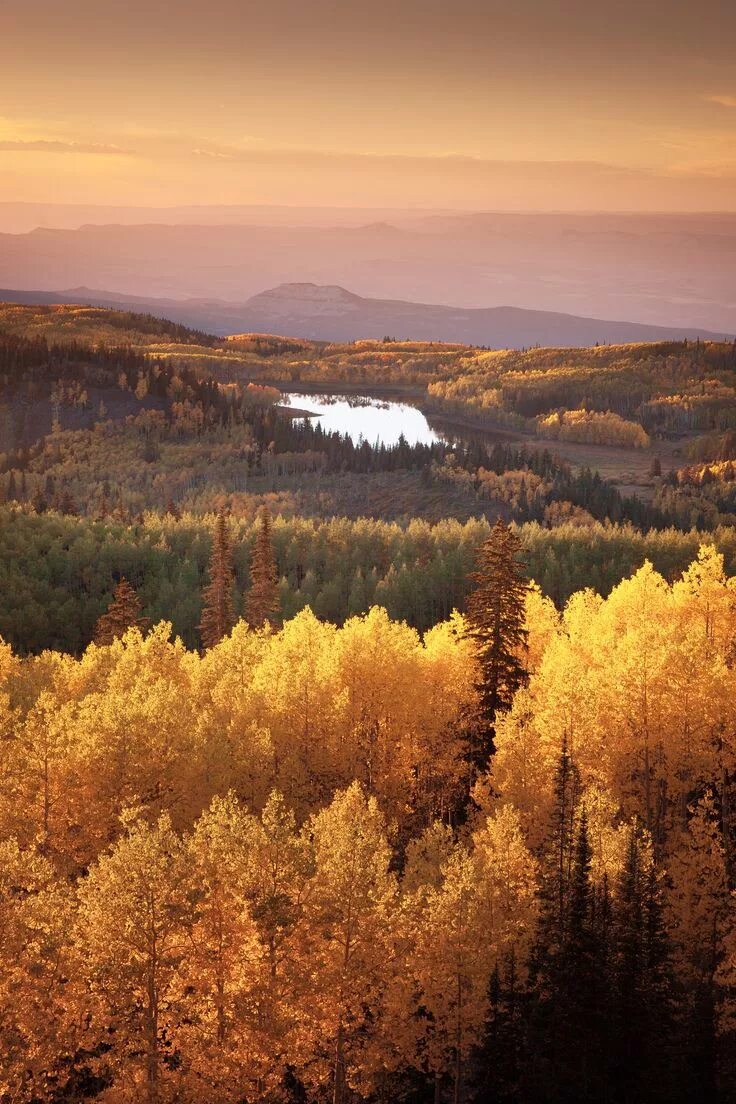
<svg viewBox="0 0 736 1104">
<path fill-rule="evenodd" d="M 149 390 L 152 383 L 145 373 L 137 380 L 140 403 L 149 395 L 175 395 L 166 380 L 158 391 Z M 134 383 L 126 378 L 121 386 Z M 415 471 L 425 486 L 441 487 L 461 473 L 462 479 L 454 481 L 478 503 L 473 512 L 487 507 L 519 521 L 543 521 L 550 505 L 569 502 L 601 521 L 666 528 L 681 520 L 674 511 L 622 496 L 597 473 L 574 471 L 548 449 L 487 444 L 472 436 L 430 445 L 409 445 L 403 438 L 391 446 L 355 443 L 326 432 L 319 422 L 285 416 L 275 396 L 271 389 L 250 385 L 239 394 L 226 392 L 222 400 L 211 394 L 206 403 L 182 396 L 172 397 L 167 408 L 140 405 L 126 418 L 99 420 L 93 428 L 64 431 L 57 425 L 30 447 L 0 453 L 0 501 L 92 514 L 104 514 L 114 503 L 131 517 L 171 503 L 205 512 L 228 496 L 230 508 L 238 512 L 238 498 L 247 510 L 249 491 L 307 489 L 318 495 L 322 478 L 330 475 Z M 489 480 L 505 473 L 515 474 L 518 493 L 510 496 Z M 420 513 L 420 495 L 417 499 L 414 512 Z M 707 518 L 712 526 L 721 520 L 717 512 Z M 689 516 L 686 523 L 690 528 Z"/>
</svg>

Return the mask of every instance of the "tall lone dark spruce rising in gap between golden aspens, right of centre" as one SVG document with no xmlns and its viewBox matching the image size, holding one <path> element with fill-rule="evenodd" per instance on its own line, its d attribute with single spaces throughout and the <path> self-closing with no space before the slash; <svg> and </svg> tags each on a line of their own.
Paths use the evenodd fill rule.
<svg viewBox="0 0 736 1104">
<path fill-rule="evenodd" d="M 480 766 L 486 766 L 493 753 L 498 713 L 511 707 L 514 693 L 526 681 L 523 656 L 529 582 L 519 563 L 520 548 L 519 538 L 499 519 L 470 576 L 476 588 L 468 597 L 467 620 L 480 665 Z"/>
</svg>

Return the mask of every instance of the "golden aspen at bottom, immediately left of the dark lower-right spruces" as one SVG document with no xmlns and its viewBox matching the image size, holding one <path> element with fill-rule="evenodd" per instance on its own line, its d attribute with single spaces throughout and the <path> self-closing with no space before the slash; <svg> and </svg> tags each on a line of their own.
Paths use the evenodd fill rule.
<svg viewBox="0 0 736 1104">
<path fill-rule="evenodd" d="M 404 986 L 406 1060 L 460 1093 L 463 1064 L 480 1041 L 491 973 L 511 954 L 523 959 L 536 921 L 536 863 L 520 820 L 501 808 L 451 845 L 439 826 L 412 848 L 405 911 L 409 930 Z M 416 988 L 416 995 L 414 994 Z M 412 1016 L 412 1007 L 424 1009 Z"/>
</svg>

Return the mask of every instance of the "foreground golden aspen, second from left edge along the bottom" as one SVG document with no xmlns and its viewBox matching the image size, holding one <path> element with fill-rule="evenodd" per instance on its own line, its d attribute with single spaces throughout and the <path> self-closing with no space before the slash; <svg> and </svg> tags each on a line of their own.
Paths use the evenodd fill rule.
<svg viewBox="0 0 736 1104">
<path fill-rule="evenodd" d="M 168 815 L 126 820 L 126 835 L 79 884 L 76 951 L 88 985 L 89 1043 L 110 1042 L 100 1058 L 110 1098 L 154 1104 L 175 1095 L 169 1060 L 180 970 L 191 953 L 190 866 Z"/>
</svg>

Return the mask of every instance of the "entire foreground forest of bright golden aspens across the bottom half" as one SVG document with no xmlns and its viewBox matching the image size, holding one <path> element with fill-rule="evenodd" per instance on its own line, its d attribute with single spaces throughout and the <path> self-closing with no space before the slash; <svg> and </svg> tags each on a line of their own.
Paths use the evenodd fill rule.
<svg viewBox="0 0 736 1104">
<path fill-rule="evenodd" d="M 459 615 L 1 646 L 0 1100 L 726 1092 L 734 582 L 520 593 L 481 773 Z"/>
</svg>

